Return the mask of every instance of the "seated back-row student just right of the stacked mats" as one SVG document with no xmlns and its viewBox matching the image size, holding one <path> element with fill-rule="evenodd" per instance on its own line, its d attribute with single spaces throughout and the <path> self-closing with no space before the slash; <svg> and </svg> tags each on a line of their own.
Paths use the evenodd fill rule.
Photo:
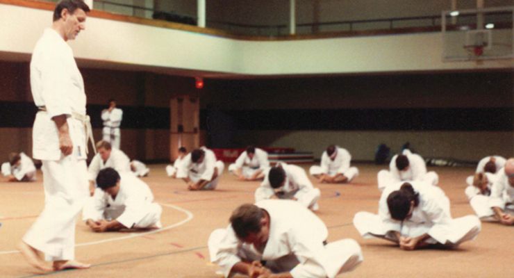
<svg viewBox="0 0 514 278">
<path fill-rule="evenodd" d="M 351 155 L 342 147 L 330 145 L 322 154 L 321 165 L 313 165 L 310 175 L 322 183 L 346 183 L 358 176 L 357 167 L 350 167 Z"/>
</svg>

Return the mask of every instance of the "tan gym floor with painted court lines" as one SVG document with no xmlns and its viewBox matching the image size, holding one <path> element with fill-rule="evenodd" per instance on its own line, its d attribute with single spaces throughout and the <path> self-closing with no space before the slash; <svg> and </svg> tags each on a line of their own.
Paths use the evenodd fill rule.
<svg viewBox="0 0 514 278">
<path fill-rule="evenodd" d="M 228 166 L 228 165 L 226 165 Z M 308 170 L 310 165 L 304 165 Z M 329 227 L 329 241 L 354 238 L 364 262 L 343 277 L 512 277 L 513 228 L 482 223 L 478 238 L 456 250 L 406 252 L 385 240 L 360 238 L 351 223 L 358 211 L 376 213 L 379 190 L 376 173 L 386 165 L 357 164 L 360 175 L 351 184 L 314 185 L 322 191 L 317 215 Z M 48 277 L 220 277 L 209 262 L 207 239 L 226 227 L 231 211 L 254 202 L 258 182 L 240 182 L 224 173 L 218 190 L 189 192 L 181 180 L 169 179 L 165 165 L 150 165 L 143 178 L 163 205 L 163 229 L 138 233 L 95 234 L 80 220 L 76 258 L 92 263 L 88 270 L 51 272 Z M 472 214 L 464 195 L 469 167 L 433 167 L 451 200 L 454 217 Z M 43 208 L 42 175 L 33 183 L 0 182 L 0 277 L 38 277 L 16 245 Z"/>
</svg>

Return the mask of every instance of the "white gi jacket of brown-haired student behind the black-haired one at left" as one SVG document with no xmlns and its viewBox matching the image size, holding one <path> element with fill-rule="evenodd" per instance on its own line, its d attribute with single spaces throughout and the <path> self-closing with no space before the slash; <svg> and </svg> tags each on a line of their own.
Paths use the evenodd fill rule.
<svg viewBox="0 0 514 278">
<path fill-rule="evenodd" d="M 126 154 L 121 149 L 116 149 L 113 147 L 110 151 L 110 156 L 105 163 L 101 159 L 100 154 L 96 154 L 93 157 L 88 168 L 89 180 L 96 181 L 98 172 L 106 167 L 111 167 L 120 174 L 122 172 L 131 171 L 130 159 L 128 159 L 128 156 L 126 156 Z"/>
</svg>

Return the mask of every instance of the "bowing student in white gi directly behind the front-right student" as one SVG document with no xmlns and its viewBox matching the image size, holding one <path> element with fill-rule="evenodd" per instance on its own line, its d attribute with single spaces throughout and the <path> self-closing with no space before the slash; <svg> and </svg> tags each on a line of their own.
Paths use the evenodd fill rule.
<svg viewBox="0 0 514 278">
<path fill-rule="evenodd" d="M 409 149 L 404 149 L 402 154 L 392 157 L 389 163 L 389 171 L 381 170 L 377 174 L 379 190 L 386 185 L 399 181 L 424 181 L 427 184 L 437 186 L 439 176 L 436 172 L 426 172 L 426 164 L 419 154 L 413 154 Z"/>
</svg>

